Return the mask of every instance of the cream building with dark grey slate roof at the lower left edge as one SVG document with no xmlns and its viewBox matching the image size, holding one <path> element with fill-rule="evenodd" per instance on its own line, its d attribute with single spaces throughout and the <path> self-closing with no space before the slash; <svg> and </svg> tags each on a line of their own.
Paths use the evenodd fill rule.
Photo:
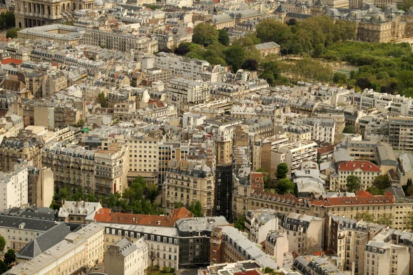
<svg viewBox="0 0 413 275">
<path fill-rule="evenodd" d="M 53 228 L 55 221 L 1 215 L 0 235 L 6 239 L 6 250 L 19 251 L 36 236 Z"/>
</svg>

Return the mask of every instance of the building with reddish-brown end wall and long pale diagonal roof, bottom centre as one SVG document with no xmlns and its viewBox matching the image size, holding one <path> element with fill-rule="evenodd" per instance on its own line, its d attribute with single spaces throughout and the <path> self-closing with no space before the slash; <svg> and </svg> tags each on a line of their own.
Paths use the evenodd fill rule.
<svg viewBox="0 0 413 275">
<path fill-rule="evenodd" d="M 277 271 L 279 266 L 271 257 L 231 225 L 219 226 L 211 234 L 211 263 L 235 263 L 254 260 L 263 267 Z"/>
</svg>

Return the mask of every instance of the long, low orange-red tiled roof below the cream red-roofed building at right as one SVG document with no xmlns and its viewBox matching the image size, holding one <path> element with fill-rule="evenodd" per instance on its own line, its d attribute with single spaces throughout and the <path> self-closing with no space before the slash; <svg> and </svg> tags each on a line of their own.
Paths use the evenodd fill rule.
<svg viewBox="0 0 413 275">
<path fill-rule="evenodd" d="M 385 195 L 366 196 L 366 193 L 363 192 L 362 196 L 330 197 L 327 199 L 312 200 L 310 201 L 310 203 L 313 206 L 323 206 L 323 207 L 363 206 L 363 205 L 369 205 L 369 204 L 393 204 L 394 196 L 386 192 L 385 192 Z"/>
</svg>

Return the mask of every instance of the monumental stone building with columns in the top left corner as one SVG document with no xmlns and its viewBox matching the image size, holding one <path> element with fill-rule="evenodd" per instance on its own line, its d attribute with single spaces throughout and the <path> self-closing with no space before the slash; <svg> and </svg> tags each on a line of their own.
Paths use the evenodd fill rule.
<svg viewBox="0 0 413 275">
<path fill-rule="evenodd" d="M 62 13 L 93 8 L 93 0 L 17 1 L 14 3 L 16 27 L 24 29 L 61 23 L 64 20 Z"/>
</svg>

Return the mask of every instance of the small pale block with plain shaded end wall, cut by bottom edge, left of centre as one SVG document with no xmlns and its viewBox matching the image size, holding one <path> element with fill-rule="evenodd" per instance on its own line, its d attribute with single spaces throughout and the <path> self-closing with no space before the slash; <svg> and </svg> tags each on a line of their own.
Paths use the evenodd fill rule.
<svg viewBox="0 0 413 275">
<path fill-rule="evenodd" d="M 148 245 L 143 237 L 133 243 L 127 238 L 109 245 L 105 252 L 105 273 L 144 275 L 148 267 Z"/>
</svg>

